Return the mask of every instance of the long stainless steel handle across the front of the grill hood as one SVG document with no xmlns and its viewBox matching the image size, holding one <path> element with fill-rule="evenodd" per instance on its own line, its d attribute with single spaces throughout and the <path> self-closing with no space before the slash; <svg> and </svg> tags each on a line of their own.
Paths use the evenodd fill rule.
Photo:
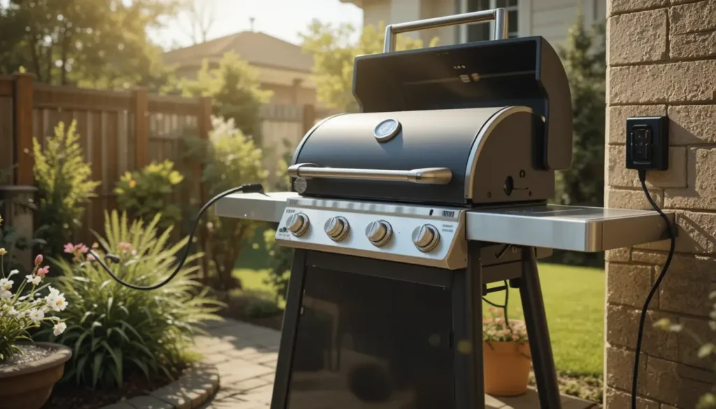
<svg viewBox="0 0 716 409">
<path fill-rule="evenodd" d="M 413 170 L 319 168 L 313 163 L 291 165 L 288 173 L 291 178 L 411 182 L 423 185 L 447 185 L 453 179 L 453 172 L 448 168 L 420 168 Z"/>
</svg>

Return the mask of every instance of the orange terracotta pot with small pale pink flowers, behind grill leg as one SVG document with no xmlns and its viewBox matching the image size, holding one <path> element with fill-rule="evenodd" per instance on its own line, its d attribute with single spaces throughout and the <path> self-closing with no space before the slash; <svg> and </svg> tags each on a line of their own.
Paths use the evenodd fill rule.
<svg viewBox="0 0 716 409">
<path fill-rule="evenodd" d="M 490 308 L 483 317 L 485 393 L 516 396 L 527 392 L 532 357 L 525 323 L 505 319 L 503 311 Z"/>
</svg>

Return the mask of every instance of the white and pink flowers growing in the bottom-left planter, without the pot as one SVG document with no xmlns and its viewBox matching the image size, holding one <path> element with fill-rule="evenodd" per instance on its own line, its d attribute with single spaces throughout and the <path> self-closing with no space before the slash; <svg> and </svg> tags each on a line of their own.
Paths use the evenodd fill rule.
<svg viewBox="0 0 716 409">
<path fill-rule="evenodd" d="M 49 292 L 42 298 L 41 291 L 45 286 L 40 287 L 40 284 L 49 272 L 49 266 L 42 266 L 42 254 L 35 258 L 32 272 L 24 279 L 21 279 L 18 270 L 5 274 L 2 261 L 6 254 L 5 249 L 0 249 L 0 362 L 16 352 L 22 353 L 16 342 L 32 340 L 28 333 L 30 328 L 47 322 L 53 324 L 52 333 L 55 335 L 60 335 L 67 329 L 67 324 L 62 319 L 50 315 L 67 308 L 64 294 L 48 286 Z"/>
</svg>

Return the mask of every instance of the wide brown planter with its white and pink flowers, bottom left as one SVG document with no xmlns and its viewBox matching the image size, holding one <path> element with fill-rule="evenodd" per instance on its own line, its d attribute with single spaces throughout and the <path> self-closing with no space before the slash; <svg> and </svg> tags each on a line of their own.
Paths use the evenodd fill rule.
<svg viewBox="0 0 716 409">
<path fill-rule="evenodd" d="M 0 249 L 0 407 L 39 409 L 72 352 L 63 345 L 33 343 L 28 331 L 52 324 L 53 332 L 62 334 L 67 324 L 52 313 L 65 309 L 67 301 L 57 289 L 42 284 L 49 271 L 49 266 L 42 266 L 42 255 L 35 258 L 32 272 L 22 277 L 18 270 L 6 274 L 6 254 Z"/>
</svg>

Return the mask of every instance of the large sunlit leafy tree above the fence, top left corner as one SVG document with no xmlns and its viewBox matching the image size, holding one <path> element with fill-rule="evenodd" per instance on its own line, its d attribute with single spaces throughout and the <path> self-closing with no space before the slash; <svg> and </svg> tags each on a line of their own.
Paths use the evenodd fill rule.
<svg viewBox="0 0 716 409">
<path fill-rule="evenodd" d="M 147 37 L 178 0 L 10 0 L 0 5 L 0 72 L 52 84 L 152 89 L 166 81 Z"/>
</svg>

